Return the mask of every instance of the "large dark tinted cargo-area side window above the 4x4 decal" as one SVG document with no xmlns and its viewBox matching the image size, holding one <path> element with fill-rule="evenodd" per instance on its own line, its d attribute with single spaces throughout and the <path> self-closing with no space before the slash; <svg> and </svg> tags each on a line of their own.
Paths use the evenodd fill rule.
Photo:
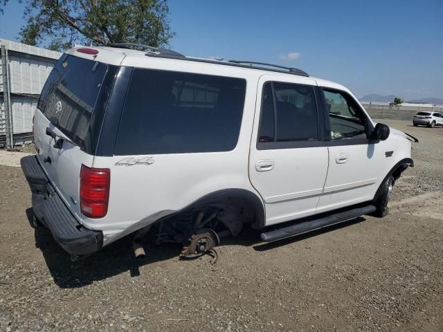
<svg viewBox="0 0 443 332">
<path fill-rule="evenodd" d="M 135 68 L 115 154 L 230 151 L 237 145 L 246 81 Z"/>
</svg>

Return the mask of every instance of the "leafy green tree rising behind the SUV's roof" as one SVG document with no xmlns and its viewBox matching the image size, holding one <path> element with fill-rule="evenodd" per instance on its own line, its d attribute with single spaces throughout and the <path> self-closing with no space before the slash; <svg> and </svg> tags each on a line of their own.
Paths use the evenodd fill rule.
<svg viewBox="0 0 443 332">
<path fill-rule="evenodd" d="M 9 0 L 0 0 L 0 12 Z M 21 42 L 64 50 L 73 44 L 165 46 L 174 36 L 166 0 L 18 0 Z"/>
</svg>

